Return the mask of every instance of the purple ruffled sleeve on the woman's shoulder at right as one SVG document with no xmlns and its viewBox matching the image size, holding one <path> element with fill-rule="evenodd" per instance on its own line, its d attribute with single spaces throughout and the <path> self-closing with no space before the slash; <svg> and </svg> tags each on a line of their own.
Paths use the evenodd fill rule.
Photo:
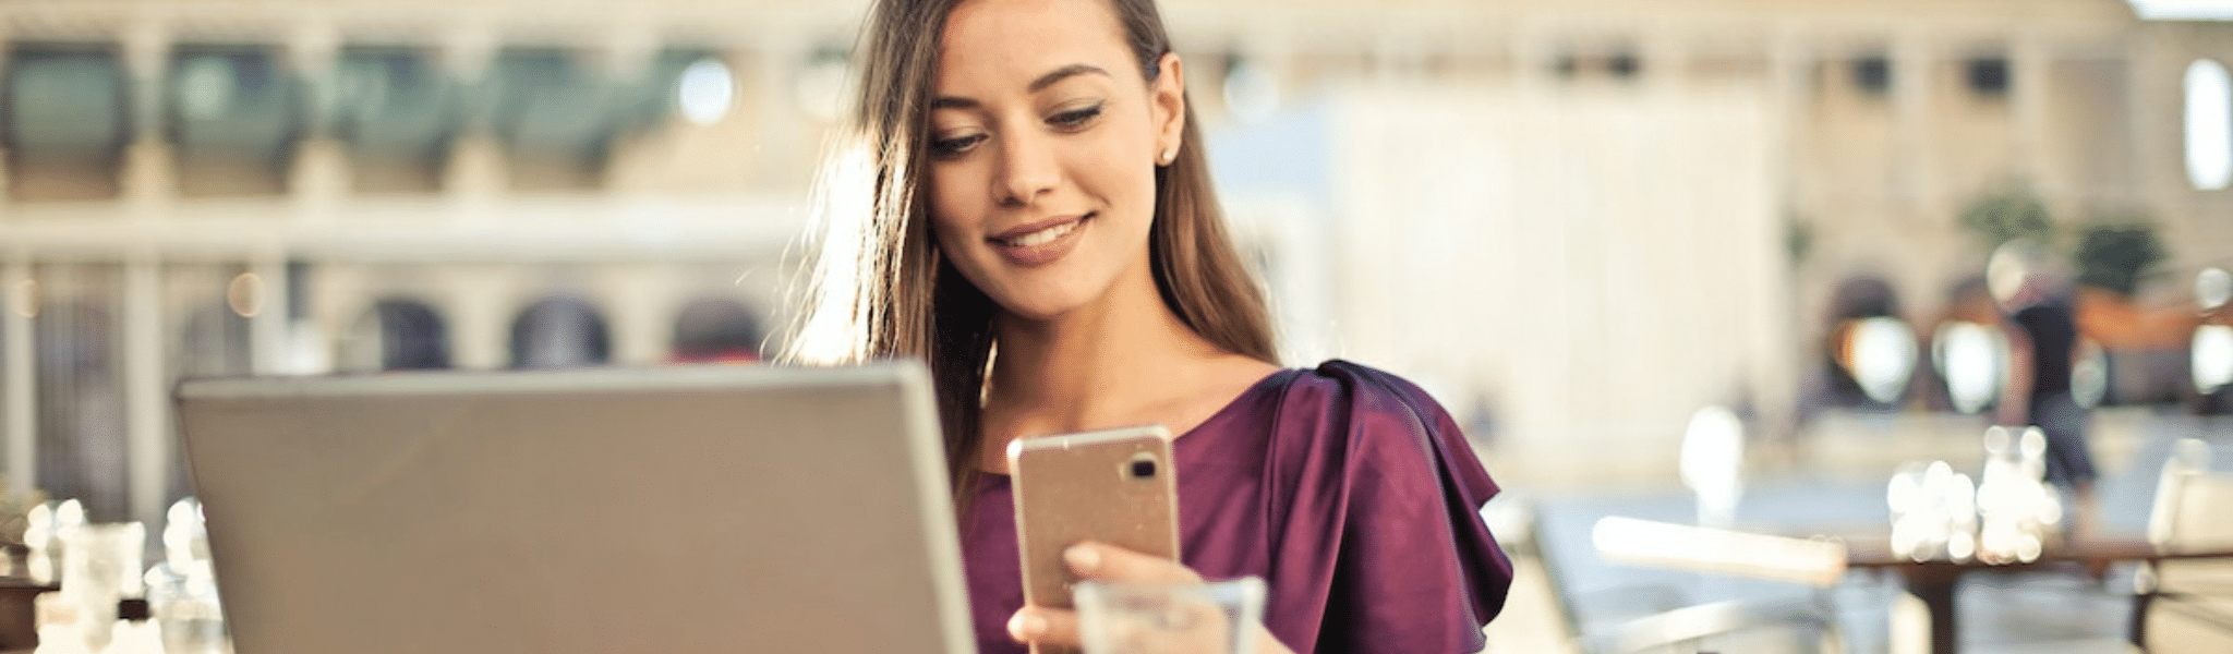
<svg viewBox="0 0 2233 654">
<path fill-rule="evenodd" d="M 1478 652 L 1512 585 L 1496 482 L 1425 391 L 1351 362 L 1275 406 L 1266 625 L 1297 652 Z"/>
</svg>

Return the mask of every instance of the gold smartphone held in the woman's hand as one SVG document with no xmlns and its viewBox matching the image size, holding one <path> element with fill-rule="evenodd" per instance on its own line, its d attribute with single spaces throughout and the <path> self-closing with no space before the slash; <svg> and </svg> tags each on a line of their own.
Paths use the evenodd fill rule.
<svg viewBox="0 0 2233 654">
<path fill-rule="evenodd" d="M 1072 607 L 1070 585 L 1079 578 L 1063 565 L 1063 549 L 1081 540 L 1179 560 L 1179 482 L 1161 424 L 1014 440 L 1007 469 L 1025 603 Z"/>
</svg>

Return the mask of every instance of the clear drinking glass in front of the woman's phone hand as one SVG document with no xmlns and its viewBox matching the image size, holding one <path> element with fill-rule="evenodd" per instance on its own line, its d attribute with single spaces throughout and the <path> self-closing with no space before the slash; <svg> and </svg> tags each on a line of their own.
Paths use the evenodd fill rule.
<svg viewBox="0 0 2233 654">
<path fill-rule="evenodd" d="M 1264 621 L 1264 580 L 1148 585 L 1079 583 L 1079 636 L 1085 654 L 1255 652 Z"/>
</svg>

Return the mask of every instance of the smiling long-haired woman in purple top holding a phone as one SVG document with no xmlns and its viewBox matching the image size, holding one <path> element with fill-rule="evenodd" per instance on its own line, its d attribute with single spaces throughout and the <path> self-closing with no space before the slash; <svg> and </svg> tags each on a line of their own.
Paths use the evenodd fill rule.
<svg viewBox="0 0 2233 654">
<path fill-rule="evenodd" d="M 1262 576 L 1259 652 L 1480 650 L 1496 484 L 1409 382 L 1273 364 L 1150 0 L 882 0 L 862 47 L 864 187 L 831 192 L 866 223 L 824 241 L 802 344 L 929 359 L 983 652 L 1076 643 L 1023 605 L 1007 444 L 1150 422 L 1183 562 L 1085 542 L 1081 578 Z"/>
</svg>

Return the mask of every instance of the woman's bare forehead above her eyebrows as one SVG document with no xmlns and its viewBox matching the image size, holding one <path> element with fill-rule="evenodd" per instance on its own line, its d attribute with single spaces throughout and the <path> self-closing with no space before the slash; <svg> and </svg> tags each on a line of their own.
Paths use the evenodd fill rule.
<svg viewBox="0 0 2233 654">
<path fill-rule="evenodd" d="M 947 16 L 938 89 L 1020 92 L 1070 65 L 1101 67 L 1112 76 L 1134 69 L 1108 0 L 965 0 Z"/>
</svg>

